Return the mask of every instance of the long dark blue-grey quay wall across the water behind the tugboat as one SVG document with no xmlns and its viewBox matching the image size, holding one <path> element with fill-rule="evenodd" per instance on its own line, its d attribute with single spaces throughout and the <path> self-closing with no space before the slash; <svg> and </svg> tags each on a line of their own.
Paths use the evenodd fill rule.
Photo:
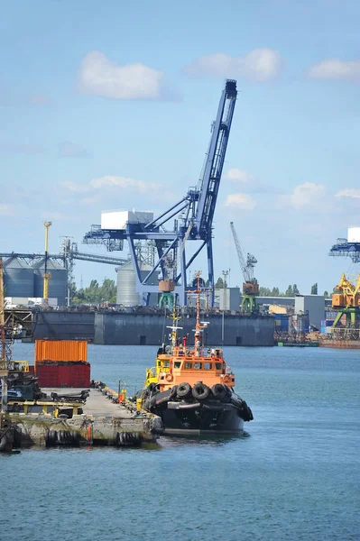
<svg viewBox="0 0 360 541">
<path fill-rule="evenodd" d="M 168 342 L 171 318 L 161 313 L 43 311 L 34 314 L 32 340 L 87 340 L 94 344 L 160 345 Z M 273 316 L 204 314 L 207 345 L 269 346 L 274 344 Z M 195 315 L 184 314 L 179 335 L 195 328 Z"/>
</svg>

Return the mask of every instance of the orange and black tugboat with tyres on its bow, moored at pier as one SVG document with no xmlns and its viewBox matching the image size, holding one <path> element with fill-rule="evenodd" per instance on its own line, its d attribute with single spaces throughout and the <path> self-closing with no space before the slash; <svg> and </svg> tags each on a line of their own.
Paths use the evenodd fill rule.
<svg viewBox="0 0 360 541">
<path fill-rule="evenodd" d="M 194 344 L 178 337 L 179 316 L 172 312 L 171 344 L 159 349 L 156 366 L 146 370 L 143 409 L 162 418 L 165 434 L 241 432 L 253 413 L 235 391 L 235 375 L 219 347 L 203 345 L 207 322 L 200 321 L 200 273 L 197 273 L 197 320 Z"/>
</svg>

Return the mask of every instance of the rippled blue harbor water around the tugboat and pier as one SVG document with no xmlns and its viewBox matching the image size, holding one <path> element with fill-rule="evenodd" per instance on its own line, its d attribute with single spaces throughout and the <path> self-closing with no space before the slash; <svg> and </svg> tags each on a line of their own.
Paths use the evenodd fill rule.
<svg viewBox="0 0 360 541">
<path fill-rule="evenodd" d="M 33 359 L 33 344 L 14 358 Z M 156 347 L 89 345 L 91 377 L 129 394 Z M 140 449 L 0 454 L 7 541 L 358 540 L 360 355 L 225 348 L 253 409 L 242 436 L 161 437 Z"/>
</svg>

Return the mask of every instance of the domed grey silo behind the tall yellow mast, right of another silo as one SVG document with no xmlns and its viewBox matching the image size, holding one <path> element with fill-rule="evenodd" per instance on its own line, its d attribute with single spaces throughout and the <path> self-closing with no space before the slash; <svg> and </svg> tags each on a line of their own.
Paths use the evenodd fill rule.
<svg viewBox="0 0 360 541">
<path fill-rule="evenodd" d="M 68 271 L 57 261 L 48 259 L 47 270 L 51 274 L 49 280 L 49 298 L 57 298 L 58 306 L 66 306 L 68 293 Z M 43 273 L 45 258 L 33 265 L 34 297 L 43 297 Z"/>
</svg>

